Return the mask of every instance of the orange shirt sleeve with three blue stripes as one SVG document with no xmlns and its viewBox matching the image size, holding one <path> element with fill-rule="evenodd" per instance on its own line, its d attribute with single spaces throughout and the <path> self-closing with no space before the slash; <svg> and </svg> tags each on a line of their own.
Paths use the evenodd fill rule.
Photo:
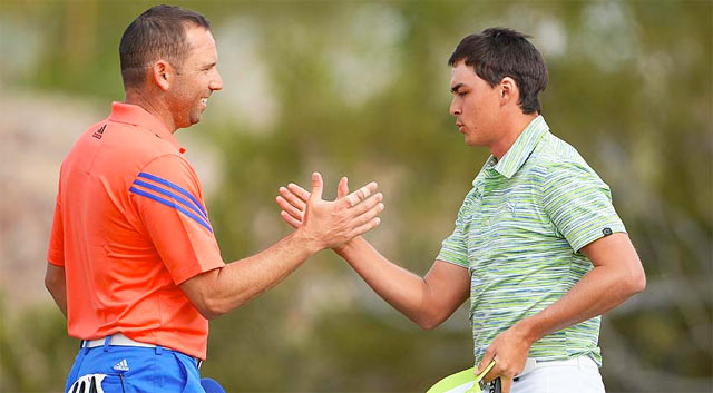
<svg viewBox="0 0 713 393">
<path fill-rule="evenodd" d="M 129 195 L 176 285 L 225 266 L 198 177 L 183 157 L 166 155 L 149 163 Z"/>
</svg>

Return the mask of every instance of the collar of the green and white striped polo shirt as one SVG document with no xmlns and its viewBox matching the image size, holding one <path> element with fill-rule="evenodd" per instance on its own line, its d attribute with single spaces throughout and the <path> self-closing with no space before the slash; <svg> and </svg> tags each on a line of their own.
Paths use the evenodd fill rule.
<svg viewBox="0 0 713 393">
<path fill-rule="evenodd" d="M 547 131 L 549 131 L 549 126 L 545 122 L 545 118 L 541 115 L 534 118 L 499 161 L 492 155 L 488 157 L 486 169 L 492 169 L 508 179 L 511 178 Z"/>
</svg>

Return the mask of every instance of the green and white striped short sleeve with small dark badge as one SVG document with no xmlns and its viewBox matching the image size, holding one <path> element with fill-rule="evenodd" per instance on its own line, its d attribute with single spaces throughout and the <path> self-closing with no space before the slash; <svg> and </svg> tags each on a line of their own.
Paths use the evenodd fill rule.
<svg viewBox="0 0 713 393">
<path fill-rule="evenodd" d="M 555 164 L 543 184 L 543 204 L 575 253 L 604 236 L 626 232 L 612 205 L 609 187 L 586 164 Z"/>
</svg>

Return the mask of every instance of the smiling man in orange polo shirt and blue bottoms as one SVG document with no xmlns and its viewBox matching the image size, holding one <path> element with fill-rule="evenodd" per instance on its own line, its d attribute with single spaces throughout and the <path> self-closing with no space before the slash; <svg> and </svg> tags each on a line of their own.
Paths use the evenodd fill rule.
<svg viewBox="0 0 713 393">
<path fill-rule="evenodd" d="M 125 102 L 79 137 L 60 169 L 46 286 L 82 341 L 66 391 L 204 392 L 207 320 L 379 225 L 382 197 L 371 183 L 322 200 L 315 173 L 305 224 L 226 265 L 173 136 L 223 88 L 208 21 L 150 8 L 126 29 L 119 53 Z"/>
</svg>

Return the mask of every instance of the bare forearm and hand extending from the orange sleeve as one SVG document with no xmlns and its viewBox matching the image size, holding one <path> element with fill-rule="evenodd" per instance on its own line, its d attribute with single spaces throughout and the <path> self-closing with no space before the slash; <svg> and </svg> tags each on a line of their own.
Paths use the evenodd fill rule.
<svg viewBox="0 0 713 393">
<path fill-rule="evenodd" d="M 323 185 L 322 176 L 313 173 L 312 193 L 304 199 L 303 215 L 294 233 L 257 255 L 182 284 L 204 316 L 212 318 L 227 313 L 280 283 L 312 254 L 343 244 L 379 225 L 377 216 L 383 210 L 383 196 L 373 194 L 377 183 L 340 195 L 334 202 L 322 199 Z"/>
</svg>

